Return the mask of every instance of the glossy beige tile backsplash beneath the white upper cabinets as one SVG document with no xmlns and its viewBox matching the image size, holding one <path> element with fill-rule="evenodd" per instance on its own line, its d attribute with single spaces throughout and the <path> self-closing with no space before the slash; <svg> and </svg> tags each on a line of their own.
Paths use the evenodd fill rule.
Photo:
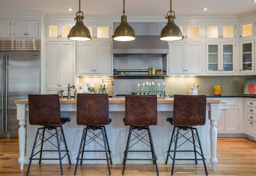
<svg viewBox="0 0 256 176">
<path fill-rule="evenodd" d="M 244 94 L 244 84 L 246 78 L 256 78 L 256 76 L 196 76 L 196 77 L 172 77 L 165 78 L 166 95 L 169 94 L 186 94 L 189 95 L 189 87 L 187 85 L 199 84 L 199 95 L 214 95 L 214 87 L 220 85 L 222 96 L 242 96 Z M 80 77 L 80 83 L 93 83 L 95 85 L 96 93 L 99 93 L 102 79 L 112 79 L 110 77 Z M 108 88 L 106 93 L 114 94 L 114 86 L 107 82 Z"/>
</svg>

